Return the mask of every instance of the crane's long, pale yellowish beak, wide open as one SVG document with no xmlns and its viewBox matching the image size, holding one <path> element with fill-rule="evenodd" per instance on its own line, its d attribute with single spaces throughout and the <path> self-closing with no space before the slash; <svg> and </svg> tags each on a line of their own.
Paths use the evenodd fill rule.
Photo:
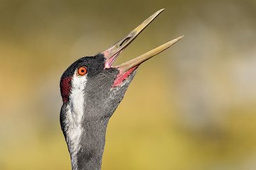
<svg viewBox="0 0 256 170">
<path fill-rule="evenodd" d="M 153 21 L 154 18 L 156 18 L 156 16 L 158 16 L 162 11 L 164 11 L 164 8 L 160 9 L 159 11 L 156 11 L 156 13 L 154 13 L 152 16 L 149 16 L 149 18 L 147 18 L 143 23 L 141 23 L 137 28 L 132 30 L 131 33 L 124 36 L 124 38 L 117 41 L 116 43 L 114 43 L 114 45 L 112 45 L 107 50 L 102 52 L 102 54 L 106 58 L 105 68 L 112 67 L 112 63 L 120 54 L 120 52 L 122 52 L 122 50 L 124 50 L 135 38 L 137 38 L 139 33 L 141 33 L 142 30 L 144 30 L 144 28 L 146 28 L 146 26 L 148 26 L 149 23 L 151 23 L 151 21 Z M 134 69 L 135 67 L 139 66 L 139 64 L 142 64 L 142 62 L 149 60 L 151 57 L 154 57 L 155 55 L 158 55 L 160 52 L 171 47 L 171 45 L 174 45 L 176 42 L 178 42 L 178 40 L 181 40 L 181 38 L 183 38 L 183 36 L 166 42 L 164 45 L 156 47 L 154 50 L 146 52 L 144 55 L 140 55 L 139 57 L 136 57 L 133 60 L 129 60 L 128 62 L 124 62 L 123 64 L 114 66 L 114 68 L 119 69 L 119 74 L 124 74 L 125 72 L 128 72 L 130 69 Z"/>
</svg>

